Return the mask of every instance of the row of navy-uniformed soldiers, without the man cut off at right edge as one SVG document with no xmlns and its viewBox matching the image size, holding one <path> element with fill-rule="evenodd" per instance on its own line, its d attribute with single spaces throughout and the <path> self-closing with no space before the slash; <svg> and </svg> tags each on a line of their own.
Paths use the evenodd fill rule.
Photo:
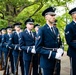
<svg viewBox="0 0 76 75">
<path fill-rule="evenodd" d="M 7 33 L 4 28 L 1 29 L 0 55 L 3 55 L 4 75 L 10 74 L 8 59 L 13 75 L 18 75 L 19 62 L 22 75 L 60 75 L 63 48 L 55 26 L 54 11 L 53 7 L 43 11 L 42 16 L 46 19 L 43 27 L 39 28 L 38 24 L 34 26 L 34 19 L 29 18 L 25 21 L 26 29 L 23 31 L 21 23 L 13 24 L 14 32 L 10 26 L 6 28 Z M 36 32 L 32 32 L 33 28 Z"/>
</svg>

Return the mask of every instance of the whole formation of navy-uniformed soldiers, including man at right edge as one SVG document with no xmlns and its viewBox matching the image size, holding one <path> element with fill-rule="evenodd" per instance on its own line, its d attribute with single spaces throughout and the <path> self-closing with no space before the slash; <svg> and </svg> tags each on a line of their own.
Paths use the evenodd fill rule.
<svg viewBox="0 0 76 75">
<path fill-rule="evenodd" d="M 56 8 L 42 12 L 46 23 L 35 24 L 33 18 L 0 30 L 0 70 L 3 75 L 60 75 L 63 42 L 57 28 Z M 66 25 L 65 39 L 70 58 L 70 75 L 76 75 L 76 8 L 69 11 L 72 22 Z M 65 61 L 67 62 L 67 61 Z M 20 68 L 20 69 L 19 69 Z"/>
</svg>

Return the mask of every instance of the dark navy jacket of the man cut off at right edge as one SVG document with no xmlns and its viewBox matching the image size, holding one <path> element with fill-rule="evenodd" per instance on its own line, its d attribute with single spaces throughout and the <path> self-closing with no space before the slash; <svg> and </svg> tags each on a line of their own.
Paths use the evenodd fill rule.
<svg viewBox="0 0 76 75">
<path fill-rule="evenodd" d="M 68 44 L 67 55 L 76 57 L 76 23 L 74 21 L 66 26 L 65 38 Z"/>
</svg>

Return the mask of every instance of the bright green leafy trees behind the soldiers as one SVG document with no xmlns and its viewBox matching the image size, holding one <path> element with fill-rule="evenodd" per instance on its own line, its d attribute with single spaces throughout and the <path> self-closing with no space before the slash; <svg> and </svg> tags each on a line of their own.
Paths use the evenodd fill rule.
<svg viewBox="0 0 76 75">
<path fill-rule="evenodd" d="M 64 6 L 65 14 L 57 17 L 57 27 L 60 30 L 62 41 L 64 39 L 65 26 L 71 21 L 70 15 L 68 15 L 67 2 L 72 0 L 0 0 L 0 29 L 7 25 L 12 25 L 14 22 L 22 22 L 22 28 L 25 27 L 24 21 L 32 17 L 35 19 L 35 24 L 38 23 L 41 26 L 45 24 L 45 19 L 42 16 L 42 12 L 50 6 Z"/>
</svg>

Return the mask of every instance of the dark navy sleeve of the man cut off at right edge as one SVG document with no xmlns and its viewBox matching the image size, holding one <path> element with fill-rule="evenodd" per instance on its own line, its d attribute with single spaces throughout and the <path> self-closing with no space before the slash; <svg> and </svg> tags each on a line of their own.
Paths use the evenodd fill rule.
<svg viewBox="0 0 76 75">
<path fill-rule="evenodd" d="M 76 49 L 76 42 L 73 42 L 73 32 L 71 27 L 66 26 L 65 29 L 65 39 L 69 47 L 75 48 Z"/>
</svg>

